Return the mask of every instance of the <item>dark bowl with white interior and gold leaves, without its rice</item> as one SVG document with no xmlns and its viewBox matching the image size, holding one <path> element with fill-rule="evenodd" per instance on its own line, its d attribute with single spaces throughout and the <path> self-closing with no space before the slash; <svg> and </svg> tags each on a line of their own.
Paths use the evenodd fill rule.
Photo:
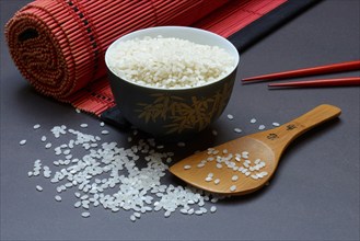
<svg viewBox="0 0 360 241">
<path fill-rule="evenodd" d="M 195 88 L 161 89 L 139 85 L 118 77 L 106 57 L 123 41 L 144 36 L 177 37 L 198 44 L 217 45 L 235 59 L 224 78 Z M 111 88 L 123 116 L 137 128 L 159 137 L 182 137 L 196 134 L 213 123 L 227 107 L 239 66 L 239 53 L 225 38 L 213 33 L 182 26 L 151 27 L 125 35 L 107 49 L 105 61 Z"/>
</svg>

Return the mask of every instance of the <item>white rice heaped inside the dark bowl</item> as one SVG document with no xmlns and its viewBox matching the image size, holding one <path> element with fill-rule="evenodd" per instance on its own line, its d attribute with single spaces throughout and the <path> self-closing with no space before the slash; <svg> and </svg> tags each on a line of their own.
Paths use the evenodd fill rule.
<svg viewBox="0 0 360 241">
<path fill-rule="evenodd" d="M 235 65 L 220 47 L 162 36 L 120 42 L 107 62 L 127 81 L 161 89 L 205 85 L 228 76 Z"/>
</svg>

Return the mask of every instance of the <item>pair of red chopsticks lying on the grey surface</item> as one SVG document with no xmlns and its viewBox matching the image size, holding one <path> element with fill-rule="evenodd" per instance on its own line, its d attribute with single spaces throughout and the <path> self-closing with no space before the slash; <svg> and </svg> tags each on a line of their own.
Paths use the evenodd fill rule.
<svg viewBox="0 0 360 241">
<path fill-rule="evenodd" d="M 322 73 L 335 73 L 342 71 L 360 70 L 360 60 L 346 61 L 326 66 L 317 66 L 305 69 L 297 69 L 284 72 L 276 72 L 269 74 L 263 74 L 257 77 L 249 77 L 243 79 L 243 83 L 252 81 L 268 81 L 268 80 L 279 80 L 287 78 L 298 78 L 306 77 L 313 74 Z M 315 80 L 304 80 L 304 81 L 292 81 L 292 82 L 280 82 L 270 83 L 269 88 L 306 88 L 306 87 L 346 87 L 346 85 L 360 85 L 360 77 L 345 77 L 345 78 L 334 78 L 334 79 L 315 79 Z"/>
</svg>

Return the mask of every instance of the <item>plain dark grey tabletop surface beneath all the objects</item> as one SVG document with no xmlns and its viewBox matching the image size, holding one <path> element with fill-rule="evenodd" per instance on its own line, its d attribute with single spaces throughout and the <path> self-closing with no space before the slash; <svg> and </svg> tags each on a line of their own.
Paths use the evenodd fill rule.
<svg viewBox="0 0 360 241">
<path fill-rule="evenodd" d="M 342 110 L 338 120 L 294 141 L 270 185 L 217 204 L 216 214 L 164 218 L 92 208 L 84 219 L 73 208 L 73 191 L 54 199 L 55 185 L 28 179 L 34 160 L 53 161 L 40 144 L 55 125 L 98 134 L 98 119 L 36 93 L 23 79 L 4 44 L 3 25 L 26 2 L 1 0 L 1 240 L 359 240 L 359 88 L 268 90 L 267 83 L 236 82 L 225 113 L 206 133 L 188 140 L 176 159 L 198 148 L 256 131 L 249 124 L 286 123 L 318 104 Z M 360 59 L 358 0 L 326 0 L 287 23 L 241 56 L 239 79 L 267 72 Z M 359 71 L 322 77 L 359 76 Z M 234 119 L 227 119 L 227 114 Z M 34 133 L 33 126 L 42 124 Z M 241 135 L 234 127 L 243 129 Z M 106 127 L 104 140 L 126 146 L 127 133 Z M 19 146 L 21 139 L 27 145 Z M 205 141 L 206 140 L 206 141 Z M 182 184 L 167 176 L 166 183 Z M 35 185 L 44 192 L 36 192 Z"/>
</svg>

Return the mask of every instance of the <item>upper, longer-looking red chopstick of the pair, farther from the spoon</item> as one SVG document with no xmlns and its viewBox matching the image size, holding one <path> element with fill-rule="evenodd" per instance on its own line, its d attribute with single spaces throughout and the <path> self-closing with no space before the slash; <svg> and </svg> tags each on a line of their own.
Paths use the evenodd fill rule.
<svg viewBox="0 0 360 241">
<path fill-rule="evenodd" d="M 346 61 L 326 66 L 318 66 L 305 69 L 290 70 L 284 72 L 276 72 L 269 74 L 263 74 L 257 77 L 245 78 L 242 81 L 254 81 L 254 80 L 275 80 L 275 79 L 284 79 L 284 78 L 293 78 L 293 77 L 304 77 L 304 76 L 313 76 L 321 73 L 334 73 L 341 71 L 351 71 L 360 69 L 360 60 L 355 61 Z M 334 83 L 334 82 L 333 82 Z"/>
</svg>

